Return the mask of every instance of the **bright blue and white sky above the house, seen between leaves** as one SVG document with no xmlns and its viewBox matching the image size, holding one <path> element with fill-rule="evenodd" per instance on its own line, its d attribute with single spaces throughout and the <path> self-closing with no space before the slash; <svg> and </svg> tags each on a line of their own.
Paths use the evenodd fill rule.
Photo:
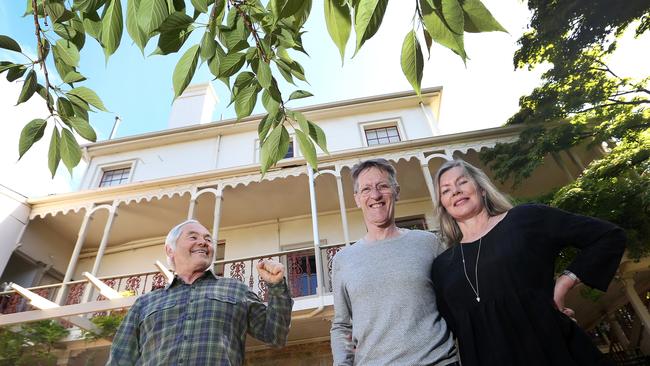
<svg viewBox="0 0 650 366">
<path fill-rule="evenodd" d="M 126 1 L 122 2 L 125 6 Z M 515 70 L 512 63 L 513 54 L 518 48 L 517 40 L 526 30 L 530 19 L 525 4 L 519 0 L 483 2 L 508 33 L 466 34 L 465 47 L 470 58 L 466 65 L 451 51 L 435 43 L 430 58 L 425 61 L 422 87 L 443 87 L 438 126 L 441 133 L 503 125 L 517 111 L 519 97 L 540 84 L 543 67 Z M 326 31 L 323 1 L 314 0 L 312 13 L 305 25 L 307 32 L 303 35 L 303 44 L 309 56 L 292 54 L 305 68 L 309 81 L 309 84 L 298 82 L 298 88 L 314 96 L 292 101 L 289 106 L 300 107 L 411 90 L 401 72 L 400 52 L 404 36 L 412 27 L 414 6 L 414 1 L 389 2 L 379 31 L 354 58 L 351 57 L 354 35 L 351 35 L 346 58 L 341 65 L 338 50 Z M 36 41 L 33 20 L 31 17 L 21 17 L 23 12 L 24 1 L 3 1 L 0 5 L 0 34 L 16 39 L 25 53 L 34 58 Z M 132 44 L 125 30 L 120 49 L 107 63 L 97 42 L 87 37 L 79 68 L 88 78 L 83 84 L 95 90 L 110 110 L 91 116 L 91 124 L 99 140 L 108 137 L 115 116 L 122 119 L 117 137 L 167 127 L 173 99 L 171 75 L 174 66 L 183 52 L 199 41 L 200 33 L 196 32 L 178 54 L 145 57 Z M 145 54 L 150 54 L 154 49 L 155 40 L 150 41 Z M 636 41 L 627 37 L 612 60 L 612 67 L 628 76 L 647 73 L 647 66 L 643 65 L 646 56 L 642 56 L 642 52 L 648 49 L 648 35 Z M 0 60 L 24 62 L 24 58 L 16 56 L 15 53 L 0 51 Z M 52 74 L 55 72 L 50 72 Z M 207 65 L 201 65 L 192 82 L 201 83 L 211 79 Z M 229 91 L 219 81 L 213 81 L 212 85 L 220 99 L 213 119 L 234 118 L 234 108 L 227 107 Z M 286 83 L 281 88 L 284 95 L 292 91 Z M 60 167 L 57 179 L 50 182 L 46 143 L 35 145 L 34 151 L 29 151 L 16 163 L 20 129 L 29 120 L 44 113 L 42 105 L 38 106 L 37 103 L 13 107 L 15 102 L 7 102 L 15 101 L 19 90 L 20 86 L 7 86 L 4 80 L 0 83 L 0 113 L 5 122 L 7 116 L 11 122 L 10 126 L 5 123 L 0 127 L 0 167 L 10 172 L 0 177 L 0 184 L 27 196 L 74 190 L 83 174 L 83 166 L 75 169 L 72 180 L 68 172 Z M 258 104 L 253 113 L 263 113 L 261 103 Z"/>
</svg>

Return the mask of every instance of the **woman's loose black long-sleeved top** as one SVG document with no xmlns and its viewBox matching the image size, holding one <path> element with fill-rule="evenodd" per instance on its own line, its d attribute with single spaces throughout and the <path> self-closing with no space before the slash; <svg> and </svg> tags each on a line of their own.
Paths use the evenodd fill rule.
<svg viewBox="0 0 650 366">
<path fill-rule="evenodd" d="M 476 288 L 479 240 L 460 245 Z M 606 291 L 625 249 L 622 229 L 543 205 L 511 209 L 481 239 L 480 302 L 465 278 L 460 245 L 435 259 L 433 283 L 463 366 L 607 364 L 587 334 L 555 308 L 554 267 L 562 248 L 580 248 L 568 269 Z"/>
</svg>

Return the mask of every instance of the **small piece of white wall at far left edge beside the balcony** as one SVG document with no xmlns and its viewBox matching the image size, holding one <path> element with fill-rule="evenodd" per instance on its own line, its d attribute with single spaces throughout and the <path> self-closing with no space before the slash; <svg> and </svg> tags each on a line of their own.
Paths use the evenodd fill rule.
<svg viewBox="0 0 650 366">
<path fill-rule="evenodd" d="M 0 186 L 0 274 L 4 272 L 20 233 L 29 221 L 30 211 L 24 197 Z"/>
</svg>

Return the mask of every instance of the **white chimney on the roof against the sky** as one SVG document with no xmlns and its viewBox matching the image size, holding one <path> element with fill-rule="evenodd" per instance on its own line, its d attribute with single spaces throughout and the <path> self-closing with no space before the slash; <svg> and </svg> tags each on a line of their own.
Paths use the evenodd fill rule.
<svg viewBox="0 0 650 366">
<path fill-rule="evenodd" d="M 212 122 L 212 112 L 219 97 L 211 83 L 189 85 L 172 104 L 168 128 Z"/>
</svg>

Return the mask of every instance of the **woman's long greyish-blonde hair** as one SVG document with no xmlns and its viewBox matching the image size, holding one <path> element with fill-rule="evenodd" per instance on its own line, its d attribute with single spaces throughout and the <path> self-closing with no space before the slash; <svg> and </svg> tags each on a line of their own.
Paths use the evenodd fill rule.
<svg viewBox="0 0 650 366">
<path fill-rule="evenodd" d="M 483 196 L 483 205 L 485 206 L 488 215 L 496 216 L 512 208 L 512 203 L 508 197 L 494 186 L 492 181 L 490 181 L 490 178 L 488 178 L 481 169 L 460 159 L 445 162 L 442 164 L 440 169 L 438 169 L 435 176 L 434 190 L 436 193 L 436 201 L 434 206 L 440 223 L 442 238 L 448 246 L 459 243 L 463 238 L 463 233 L 460 231 L 460 227 L 456 223 L 456 220 L 454 220 L 454 218 L 451 217 L 447 210 L 442 206 L 440 199 L 440 176 L 442 176 L 446 171 L 456 167 L 462 168 L 463 174 L 476 184 L 479 191 L 485 193 Z"/>
</svg>

